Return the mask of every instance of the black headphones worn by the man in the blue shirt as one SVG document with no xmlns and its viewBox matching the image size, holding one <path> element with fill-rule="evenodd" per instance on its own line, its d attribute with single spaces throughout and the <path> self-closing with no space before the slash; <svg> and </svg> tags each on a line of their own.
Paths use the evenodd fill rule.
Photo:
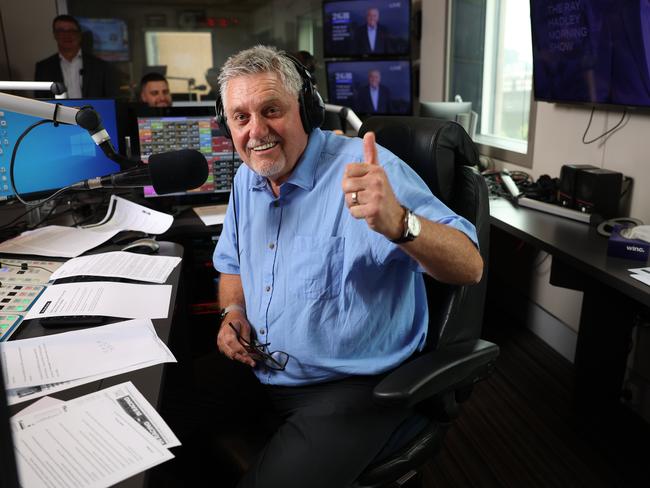
<svg viewBox="0 0 650 488">
<path fill-rule="evenodd" d="M 325 104 L 316 88 L 314 88 L 314 80 L 311 73 L 307 71 L 307 68 L 305 68 L 303 64 L 291 54 L 282 53 L 282 56 L 293 63 L 296 70 L 298 70 L 300 79 L 302 80 L 302 87 L 298 94 L 300 120 L 302 121 L 303 129 L 305 129 L 305 132 L 309 134 L 312 130 L 323 125 L 323 120 L 325 119 Z M 223 109 L 221 95 L 217 96 L 216 111 L 219 128 L 228 139 L 232 139 L 230 129 L 226 123 L 226 114 Z"/>
</svg>

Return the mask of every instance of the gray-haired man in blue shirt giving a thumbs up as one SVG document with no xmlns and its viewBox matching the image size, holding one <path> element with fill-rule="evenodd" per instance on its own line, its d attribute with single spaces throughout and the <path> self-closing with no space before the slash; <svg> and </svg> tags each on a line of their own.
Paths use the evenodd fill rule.
<svg viewBox="0 0 650 488">
<path fill-rule="evenodd" d="M 246 164 L 214 254 L 217 343 L 281 419 L 239 486 L 345 487 L 410 414 L 374 406 L 372 389 L 424 345 L 422 272 L 478 282 L 476 233 L 373 134 L 306 126 L 283 53 L 242 51 L 219 81 Z"/>
</svg>

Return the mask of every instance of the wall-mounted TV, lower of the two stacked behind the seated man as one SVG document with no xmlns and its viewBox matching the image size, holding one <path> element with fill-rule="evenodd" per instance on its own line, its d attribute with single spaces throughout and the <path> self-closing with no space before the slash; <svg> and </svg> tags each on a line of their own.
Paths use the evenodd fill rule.
<svg viewBox="0 0 650 488">
<path fill-rule="evenodd" d="M 330 61 L 327 63 L 330 103 L 358 115 L 411 114 L 411 63 L 395 61 Z"/>
</svg>

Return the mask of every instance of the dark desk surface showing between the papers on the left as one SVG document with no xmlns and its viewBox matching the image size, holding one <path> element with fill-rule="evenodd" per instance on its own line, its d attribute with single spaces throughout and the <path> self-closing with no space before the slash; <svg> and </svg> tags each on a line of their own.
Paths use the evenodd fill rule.
<svg viewBox="0 0 650 488">
<path fill-rule="evenodd" d="M 106 250 L 115 250 L 115 249 L 106 249 Z M 160 242 L 160 249 L 158 254 L 161 256 L 183 256 L 183 247 L 179 244 L 174 244 L 171 242 Z M 176 301 L 179 291 L 181 275 L 181 264 L 176 266 L 172 271 L 169 278 L 167 279 L 167 285 L 172 285 L 172 293 L 169 301 L 169 311 L 167 313 L 166 319 L 154 319 L 152 320 L 158 337 L 167 345 L 169 345 L 170 332 L 172 328 L 172 322 L 174 317 L 174 310 L 176 308 Z M 126 319 L 115 319 L 115 321 L 126 320 Z M 39 337 L 45 334 L 53 334 L 59 332 L 66 332 L 68 330 L 77 330 L 76 328 L 64 328 L 57 327 L 54 329 L 46 329 L 42 327 L 38 320 L 31 320 L 25 324 L 21 324 L 20 328 L 11 336 L 11 340 L 14 339 L 27 339 L 29 337 Z M 172 351 L 173 352 L 173 351 Z M 118 385 L 125 381 L 131 381 L 136 386 L 136 388 L 144 395 L 144 397 L 151 403 L 154 407 L 158 407 L 161 400 L 161 393 L 164 380 L 164 364 L 159 364 L 156 366 L 151 366 L 145 369 L 138 369 L 129 373 L 120 374 L 117 376 L 110 376 L 104 378 L 103 380 L 96 381 L 94 383 L 88 383 L 85 385 L 80 385 L 75 388 L 70 388 L 60 392 L 53 393 L 52 396 L 60 398 L 62 400 L 71 400 L 73 398 L 92 393 L 100 389 L 104 389 L 109 386 Z M 25 406 L 29 405 L 29 402 L 20 403 L 14 405 L 11 408 L 12 412 L 16 413 L 19 410 L 22 410 Z M 118 483 L 115 486 L 120 488 L 141 488 L 146 486 L 146 477 L 147 473 L 139 473 L 131 478 Z"/>
</svg>

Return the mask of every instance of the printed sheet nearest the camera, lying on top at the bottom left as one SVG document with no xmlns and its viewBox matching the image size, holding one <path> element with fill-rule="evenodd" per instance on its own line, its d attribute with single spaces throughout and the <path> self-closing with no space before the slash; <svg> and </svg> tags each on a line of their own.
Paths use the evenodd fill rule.
<svg viewBox="0 0 650 488">
<path fill-rule="evenodd" d="M 106 396 L 14 431 L 20 484 L 104 488 L 173 458 Z"/>
</svg>

